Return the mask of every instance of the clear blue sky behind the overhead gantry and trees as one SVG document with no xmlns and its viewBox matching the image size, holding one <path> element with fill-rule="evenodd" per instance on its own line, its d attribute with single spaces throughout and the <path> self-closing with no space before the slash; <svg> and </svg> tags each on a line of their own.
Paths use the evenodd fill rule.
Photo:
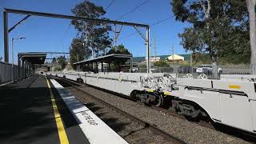
<svg viewBox="0 0 256 144">
<path fill-rule="evenodd" d="M 90 0 L 98 6 L 106 7 L 112 0 Z M 116 20 L 129 10 L 140 5 L 146 0 L 115 0 L 109 7 L 106 13 L 106 18 Z M 34 10 L 54 14 L 69 14 L 72 15 L 71 9 L 82 0 L 0 0 L 0 57 L 3 57 L 3 37 L 2 37 L 2 8 L 18 9 L 18 10 Z M 9 14 L 9 27 L 13 26 L 25 15 Z M 134 12 L 126 15 L 120 21 L 138 22 L 144 24 L 153 24 L 162 19 L 173 16 L 170 7 L 170 0 L 150 0 L 145 5 L 139 7 Z M 181 39 L 178 38 L 178 33 L 189 24 L 176 22 L 175 18 L 170 18 L 161 24 L 150 28 L 150 40 L 153 46 L 153 39 L 156 38 L 157 54 L 171 54 L 170 45 L 174 46 L 175 54 L 185 54 L 182 46 L 180 46 Z M 142 30 L 145 32 L 145 30 Z M 130 50 L 134 56 L 145 56 L 146 46 L 144 40 L 139 34 L 135 32 L 133 27 L 125 26 L 120 34 L 118 44 L 123 44 Z M 42 18 L 32 16 L 18 26 L 15 30 L 10 32 L 10 38 L 17 38 L 25 36 L 26 39 L 17 40 L 14 42 L 14 60 L 17 61 L 18 52 L 29 51 L 59 51 L 67 52 L 69 50 L 70 42 L 77 34 L 73 26 L 70 26 L 70 20 L 58 18 Z M 113 35 L 111 34 L 111 37 Z M 10 45 L 9 45 L 10 46 Z M 153 47 L 151 49 L 154 54 Z"/>
</svg>

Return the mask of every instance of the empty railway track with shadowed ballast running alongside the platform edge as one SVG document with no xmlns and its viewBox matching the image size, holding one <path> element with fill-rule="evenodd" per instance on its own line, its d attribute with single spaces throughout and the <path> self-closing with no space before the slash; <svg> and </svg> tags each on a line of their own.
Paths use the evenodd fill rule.
<svg viewBox="0 0 256 144">
<path fill-rule="evenodd" d="M 90 105 L 92 105 L 91 107 L 92 109 L 94 109 L 95 107 L 101 107 L 101 109 L 104 109 L 103 111 L 107 119 L 116 119 L 118 117 L 118 121 L 123 120 L 124 122 L 122 123 L 126 123 L 128 125 L 126 126 L 126 129 L 129 129 L 129 130 L 125 130 L 125 132 L 122 132 L 122 134 L 120 135 L 122 136 L 122 138 L 125 138 L 126 141 L 129 143 L 186 143 L 182 141 L 180 138 L 176 138 L 173 135 L 170 135 L 165 131 L 158 129 L 157 126 L 153 126 L 148 122 L 144 122 L 141 119 L 136 118 L 133 115 L 128 114 L 125 111 L 120 110 L 117 107 L 112 106 L 107 102 L 104 102 L 102 99 L 94 97 L 94 95 L 87 93 L 85 90 L 82 90 L 81 85 L 78 84 L 77 82 L 71 82 L 70 80 L 66 80 L 63 78 L 57 78 L 56 81 L 58 81 L 64 87 L 71 86 L 70 88 L 68 88 L 68 90 L 72 90 L 73 88 L 75 90 L 78 90 L 80 93 L 79 94 L 80 96 L 83 95 L 84 97 L 86 97 L 86 98 L 82 98 L 82 101 L 85 103 L 89 103 L 88 105 L 89 108 L 90 108 Z M 96 101 L 96 102 L 92 104 L 92 101 Z M 113 113 L 113 110 L 116 111 L 118 114 Z M 109 112 L 111 111 L 108 116 L 106 116 L 106 111 L 109 111 Z M 99 115 L 102 115 L 102 110 L 99 113 Z M 125 117 L 125 118 L 120 118 L 120 117 Z M 103 121 L 104 121 L 104 118 L 103 118 Z M 115 125 L 114 123 L 117 123 L 117 125 L 120 124 L 120 122 L 106 122 L 106 124 L 109 124 L 109 126 L 114 130 L 119 130 L 120 126 L 114 126 Z"/>
</svg>

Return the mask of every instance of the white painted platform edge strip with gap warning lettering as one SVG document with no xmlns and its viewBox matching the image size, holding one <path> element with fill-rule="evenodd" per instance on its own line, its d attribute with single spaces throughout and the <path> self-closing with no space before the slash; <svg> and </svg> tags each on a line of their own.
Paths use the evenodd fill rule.
<svg viewBox="0 0 256 144">
<path fill-rule="evenodd" d="M 88 138 L 91 144 L 128 143 L 114 130 L 107 126 L 106 123 L 98 118 L 92 111 L 84 106 L 82 102 L 79 102 L 77 98 L 70 93 L 67 93 L 62 85 L 60 85 L 54 79 L 51 79 L 50 82 L 52 82 L 54 87 L 58 90 L 58 94 L 61 95 L 63 101 L 66 103 L 66 106 L 74 115 L 74 118 L 76 118 L 83 133 L 86 135 L 86 138 Z"/>
</svg>

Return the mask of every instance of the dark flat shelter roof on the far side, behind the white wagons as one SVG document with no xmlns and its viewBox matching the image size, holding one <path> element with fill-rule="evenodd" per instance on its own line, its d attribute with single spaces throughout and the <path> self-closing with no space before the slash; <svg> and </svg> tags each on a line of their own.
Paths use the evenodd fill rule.
<svg viewBox="0 0 256 144">
<path fill-rule="evenodd" d="M 114 58 L 130 59 L 130 58 L 133 58 L 133 55 L 132 54 L 108 54 L 98 58 L 92 58 L 92 59 L 87 59 L 81 62 L 75 62 L 73 64 L 78 65 L 81 63 L 91 63 L 91 62 L 113 62 Z"/>
</svg>

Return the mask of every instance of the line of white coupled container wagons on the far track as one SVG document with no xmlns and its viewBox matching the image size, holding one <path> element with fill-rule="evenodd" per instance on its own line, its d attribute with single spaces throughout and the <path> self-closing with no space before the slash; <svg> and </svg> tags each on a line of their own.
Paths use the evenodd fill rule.
<svg viewBox="0 0 256 144">
<path fill-rule="evenodd" d="M 177 78 L 176 74 L 143 73 L 50 73 L 154 106 L 173 107 L 186 118 L 209 117 L 256 134 L 256 76 L 223 75 L 220 80 L 204 76 Z"/>
</svg>

